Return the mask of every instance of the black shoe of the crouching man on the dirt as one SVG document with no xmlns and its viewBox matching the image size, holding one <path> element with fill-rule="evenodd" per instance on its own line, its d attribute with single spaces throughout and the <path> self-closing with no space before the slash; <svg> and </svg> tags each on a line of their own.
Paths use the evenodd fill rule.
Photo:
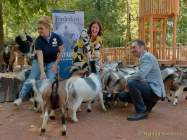
<svg viewBox="0 0 187 140">
<path fill-rule="evenodd" d="M 138 120 L 142 120 L 142 119 L 146 119 L 148 117 L 148 113 L 136 113 L 133 115 L 130 115 L 127 117 L 128 121 L 138 121 Z"/>
</svg>

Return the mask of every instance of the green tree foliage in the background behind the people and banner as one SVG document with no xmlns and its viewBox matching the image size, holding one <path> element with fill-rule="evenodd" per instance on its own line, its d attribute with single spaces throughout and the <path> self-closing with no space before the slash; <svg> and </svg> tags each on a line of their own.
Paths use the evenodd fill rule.
<svg viewBox="0 0 187 140">
<path fill-rule="evenodd" d="M 139 0 L 129 0 L 129 5 L 127 0 L 1 0 L 1 2 L 5 40 L 14 39 L 21 31 L 36 35 L 37 19 L 41 15 L 50 16 L 54 9 L 84 11 L 86 27 L 92 20 L 99 19 L 104 27 L 104 43 L 107 47 L 124 46 L 127 35 L 132 39 L 138 37 Z M 180 7 L 177 42 L 185 43 L 187 0 L 180 0 Z M 127 21 L 127 13 L 130 15 L 130 21 Z M 127 31 L 130 34 L 127 34 Z"/>
</svg>

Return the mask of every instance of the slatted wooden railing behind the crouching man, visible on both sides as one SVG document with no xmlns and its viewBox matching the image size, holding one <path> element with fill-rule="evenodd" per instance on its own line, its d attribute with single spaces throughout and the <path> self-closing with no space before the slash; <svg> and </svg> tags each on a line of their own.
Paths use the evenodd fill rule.
<svg viewBox="0 0 187 140">
<path fill-rule="evenodd" d="M 151 52 L 150 49 L 148 49 Z M 160 64 L 166 65 L 184 65 L 187 66 L 187 46 L 179 46 L 176 48 L 157 48 L 153 53 Z M 118 48 L 103 48 L 101 50 L 101 58 L 109 59 L 111 61 L 123 61 L 126 64 L 137 64 L 137 58 L 131 55 L 130 48 L 118 47 Z"/>
</svg>

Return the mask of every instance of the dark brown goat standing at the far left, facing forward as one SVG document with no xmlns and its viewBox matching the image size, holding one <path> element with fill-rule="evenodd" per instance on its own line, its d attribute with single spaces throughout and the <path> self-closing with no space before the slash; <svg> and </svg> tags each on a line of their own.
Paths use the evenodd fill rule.
<svg viewBox="0 0 187 140">
<path fill-rule="evenodd" d="M 14 68 L 14 62 L 15 62 L 15 50 L 14 50 L 14 46 L 5 46 L 4 50 L 3 50 L 3 60 L 5 62 L 6 65 L 6 71 L 9 72 L 13 72 Z"/>
</svg>

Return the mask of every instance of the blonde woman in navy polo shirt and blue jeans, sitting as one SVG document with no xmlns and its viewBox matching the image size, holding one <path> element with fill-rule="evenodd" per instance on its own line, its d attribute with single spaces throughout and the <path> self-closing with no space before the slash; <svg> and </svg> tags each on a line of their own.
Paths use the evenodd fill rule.
<svg viewBox="0 0 187 140">
<path fill-rule="evenodd" d="M 14 104 L 19 106 L 23 98 L 32 88 L 30 79 L 50 79 L 54 81 L 58 63 L 63 55 L 63 41 L 59 35 L 51 32 L 51 20 L 47 16 L 39 19 L 37 24 L 39 36 L 35 42 L 36 56 L 32 62 L 32 69 L 28 79 L 24 82 L 19 92 L 19 98 Z"/>
</svg>

